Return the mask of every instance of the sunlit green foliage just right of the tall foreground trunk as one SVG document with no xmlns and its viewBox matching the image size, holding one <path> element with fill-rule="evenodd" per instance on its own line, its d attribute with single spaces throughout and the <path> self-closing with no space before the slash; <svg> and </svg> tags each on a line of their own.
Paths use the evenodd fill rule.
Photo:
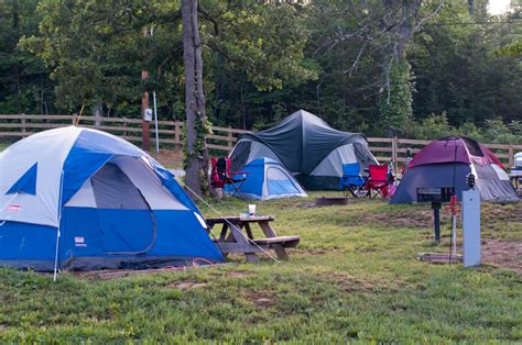
<svg viewBox="0 0 522 345">
<path fill-rule="evenodd" d="M 242 75 L 260 91 L 317 77 L 304 62 L 308 31 L 293 5 L 227 1 L 204 4 L 215 23 L 208 27 L 206 43 L 218 54 L 215 57 L 220 64 L 226 62 L 221 67 Z"/>
</svg>

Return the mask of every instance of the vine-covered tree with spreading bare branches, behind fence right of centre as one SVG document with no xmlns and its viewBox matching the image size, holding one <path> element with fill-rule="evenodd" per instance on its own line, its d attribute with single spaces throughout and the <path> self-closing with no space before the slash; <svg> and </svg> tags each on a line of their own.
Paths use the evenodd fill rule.
<svg viewBox="0 0 522 345">
<path fill-rule="evenodd" d="M 414 32 L 434 18 L 444 1 L 424 5 L 423 0 L 382 1 L 325 1 L 328 12 L 336 11 L 339 25 L 331 25 L 318 42 L 316 53 L 330 52 L 336 46 L 350 42 L 356 54 L 348 56 L 351 76 L 365 57 L 371 56 L 381 67 L 380 89 L 377 98 L 381 129 L 404 127 L 412 114 L 412 76 L 406 59 L 406 48 Z M 334 10 L 331 10 L 334 8 Z M 421 11 L 422 10 L 422 11 Z M 348 48 L 348 54 L 354 54 Z"/>
</svg>

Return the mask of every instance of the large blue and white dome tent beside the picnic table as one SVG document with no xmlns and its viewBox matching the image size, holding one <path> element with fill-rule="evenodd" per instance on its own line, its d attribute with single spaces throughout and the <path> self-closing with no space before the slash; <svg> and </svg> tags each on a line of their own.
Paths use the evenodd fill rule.
<svg viewBox="0 0 522 345">
<path fill-rule="evenodd" d="M 174 176 L 132 144 L 68 126 L 0 153 L 0 266 L 48 271 L 222 261 Z"/>
</svg>

